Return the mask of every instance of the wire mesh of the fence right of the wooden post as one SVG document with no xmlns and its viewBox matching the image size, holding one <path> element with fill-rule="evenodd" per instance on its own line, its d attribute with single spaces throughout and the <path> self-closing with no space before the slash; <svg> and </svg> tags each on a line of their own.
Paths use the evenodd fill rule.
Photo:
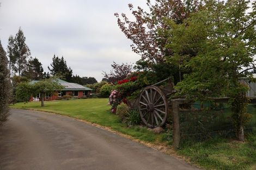
<svg viewBox="0 0 256 170">
<path fill-rule="evenodd" d="M 252 119 L 246 124 L 245 134 L 256 132 L 256 104 L 249 104 L 248 113 L 252 114 Z M 216 136 L 233 138 L 236 135 L 231 110 L 226 103 L 193 103 L 186 109 L 180 109 L 179 119 L 181 142 Z"/>
</svg>

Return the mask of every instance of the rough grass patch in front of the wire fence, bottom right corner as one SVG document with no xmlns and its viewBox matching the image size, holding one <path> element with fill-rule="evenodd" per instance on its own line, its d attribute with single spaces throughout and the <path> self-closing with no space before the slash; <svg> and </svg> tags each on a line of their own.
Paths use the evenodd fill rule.
<svg viewBox="0 0 256 170">
<path fill-rule="evenodd" d="M 256 135 L 247 136 L 247 142 L 213 138 L 204 142 L 185 143 L 178 150 L 192 163 L 205 169 L 220 170 L 255 170 L 256 169 Z"/>
</svg>

